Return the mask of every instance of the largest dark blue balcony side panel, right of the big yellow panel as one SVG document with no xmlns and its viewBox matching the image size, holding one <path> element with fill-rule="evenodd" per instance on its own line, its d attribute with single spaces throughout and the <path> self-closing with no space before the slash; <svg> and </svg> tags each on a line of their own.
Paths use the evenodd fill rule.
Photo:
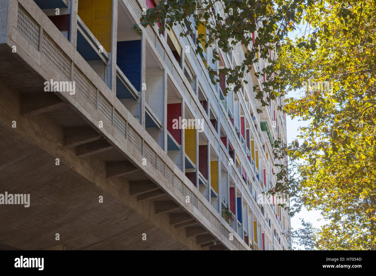
<svg viewBox="0 0 376 276">
<path fill-rule="evenodd" d="M 137 91 L 141 91 L 141 40 L 117 42 L 116 63 Z"/>
</svg>

